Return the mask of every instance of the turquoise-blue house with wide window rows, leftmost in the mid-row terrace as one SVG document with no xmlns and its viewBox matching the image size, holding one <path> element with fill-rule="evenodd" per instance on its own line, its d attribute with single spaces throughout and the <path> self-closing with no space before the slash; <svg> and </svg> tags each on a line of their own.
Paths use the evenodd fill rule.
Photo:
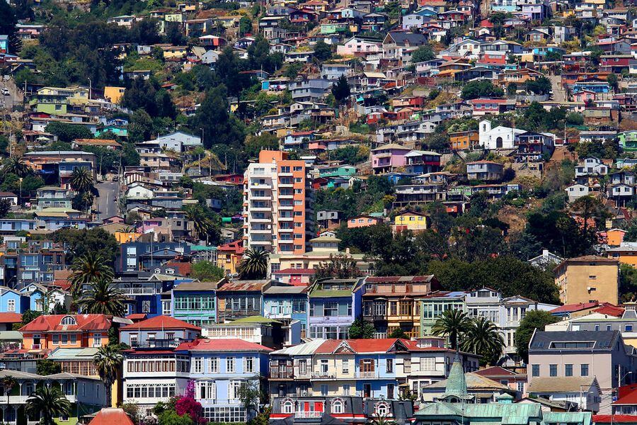
<svg viewBox="0 0 637 425">
<path fill-rule="evenodd" d="M 171 315 L 196 326 L 217 322 L 216 290 L 216 282 L 179 283 L 168 300 Z"/>
</svg>

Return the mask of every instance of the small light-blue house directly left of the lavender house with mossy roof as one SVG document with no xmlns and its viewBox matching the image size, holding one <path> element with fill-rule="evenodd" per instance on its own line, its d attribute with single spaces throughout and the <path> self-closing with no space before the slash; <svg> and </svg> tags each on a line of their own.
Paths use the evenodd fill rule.
<svg viewBox="0 0 637 425">
<path fill-rule="evenodd" d="M 307 287 L 272 285 L 263 291 L 263 316 L 268 319 L 298 320 L 301 335 L 307 331 Z"/>
</svg>

